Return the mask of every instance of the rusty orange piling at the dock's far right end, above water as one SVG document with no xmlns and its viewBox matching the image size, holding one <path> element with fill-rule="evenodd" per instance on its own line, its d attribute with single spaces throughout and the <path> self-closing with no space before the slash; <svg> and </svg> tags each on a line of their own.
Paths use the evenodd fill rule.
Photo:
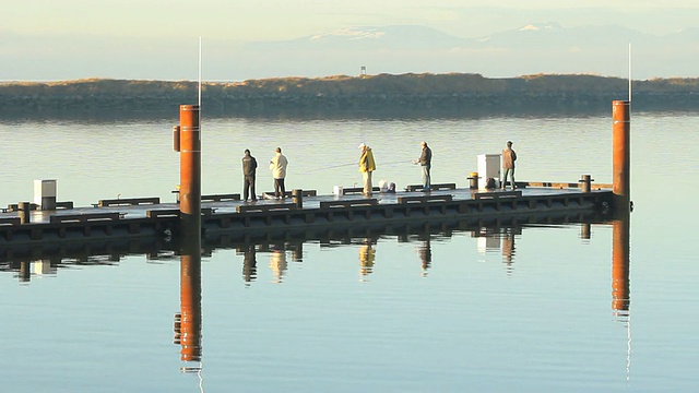
<svg viewBox="0 0 699 393">
<path fill-rule="evenodd" d="M 612 150 L 614 152 L 614 167 L 612 190 L 615 195 L 615 210 L 628 212 L 631 202 L 631 103 L 615 100 L 612 103 Z"/>
</svg>

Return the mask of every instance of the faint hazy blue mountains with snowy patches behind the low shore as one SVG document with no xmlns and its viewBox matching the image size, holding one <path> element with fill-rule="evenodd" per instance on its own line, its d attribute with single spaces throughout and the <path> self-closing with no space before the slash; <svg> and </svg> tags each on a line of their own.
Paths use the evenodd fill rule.
<svg viewBox="0 0 699 393">
<path fill-rule="evenodd" d="M 271 75 L 354 75 L 365 67 L 372 74 L 470 72 L 498 78 L 585 73 L 627 78 L 629 44 L 635 79 L 699 75 L 699 28 L 655 36 L 614 25 L 562 27 L 549 22 L 462 38 L 425 26 L 365 26 L 248 44 L 239 53 L 246 62 L 260 66 L 258 71 L 269 69 Z M 272 64 L 280 71 L 272 72 Z"/>
</svg>

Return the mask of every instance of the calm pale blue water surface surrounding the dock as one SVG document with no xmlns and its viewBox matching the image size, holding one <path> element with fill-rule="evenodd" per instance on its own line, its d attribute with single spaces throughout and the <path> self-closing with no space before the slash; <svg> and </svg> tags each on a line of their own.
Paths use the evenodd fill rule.
<svg viewBox="0 0 699 393">
<path fill-rule="evenodd" d="M 0 123 L 0 203 L 171 198 L 171 126 Z M 222 248 L 202 258 L 202 359 L 180 360 L 178 257 L 93 257 L 0 272 L 0 386 L 12 392 L 695 391 L 694 247 L 699 116 L 632 114 L 630 308 L 615 310 L 611 225 L 384 234 Z M 281 146 L 288 188 L 330 193 L 360 181 L 467 184 L 476 155 L 519 155 L 518 180 L 612 182 L 612 121 L 585 118 L 250 121 L 202 119 L 203 192 L 240 192 L 242 150 Z M 258 190 L 272 189 L 266 170 Z M 253 249 L 252 253 L 250 250 Z M 247 252 L 246 252 L 247 250 Z M 167 257 L 163 253 L 161 257 Z M 201 366 L 200 372 L 180 372 Z"/>
</svg>

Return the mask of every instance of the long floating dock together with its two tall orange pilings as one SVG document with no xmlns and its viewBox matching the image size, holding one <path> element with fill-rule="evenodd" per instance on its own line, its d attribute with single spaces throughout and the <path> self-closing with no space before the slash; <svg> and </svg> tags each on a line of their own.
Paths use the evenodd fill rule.
<svg viewBox="0 0 699 393">
<path fill-rule="evenodd" d="M 186 253 L 194 255 L 206 241 L 222 237 L 223 242 L 249 242 L 401 225 L 495 222 L 497 226 L 499 222 L 516 225 L 554 216 L 580 222 L 585 216 L 611 215 L 630 206 L 629 105 L 613 103 L 613 184 L 593 186 L 590 175 L 583 175 L 577 183 L 517 182 L 509 191 L 483 190 L 472 177 L 469 188 L 443 183 L 423 192 L 422 186 L 408 186 L 394 193 L 376 189 L 371 196 L 357 188 L 333 195 L 293 190 L 283 199 L 249 203 L 240 201 L 239 194 L 201 194 L 199 106 L 182 105 L 180 124 L 173 128 L 174 150 L 180 154 L 175 202 L 132 198 L 74 207 L 71 202 L 56 201 L 55 181 L 35 180 L 40 206 L 22 202 L 0 213 L 0 261 L 62 255 L 75 248 L 110 252 L 125 243 L 128 250 L 138 250 L 153 245 L 176 248 L 182 242 Z"/>
</svg>

